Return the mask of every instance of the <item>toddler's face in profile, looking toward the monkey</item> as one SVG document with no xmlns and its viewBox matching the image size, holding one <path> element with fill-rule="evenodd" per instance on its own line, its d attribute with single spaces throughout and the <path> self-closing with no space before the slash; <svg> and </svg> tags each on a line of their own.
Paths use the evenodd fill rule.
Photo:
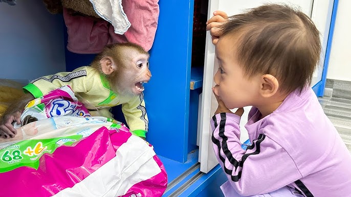
<svg viewBox="0 0 351 197">
<path fill-rule="evenodd" d="M 250 79 L 237 63 L 232 36 L 224 36 L 216 44 L 218 70 L 214 76 L 214 93 L 220 96 L 227 108 L 234 109 L 254 105 L 258 96 L 258 75 Z"/>
</svg>

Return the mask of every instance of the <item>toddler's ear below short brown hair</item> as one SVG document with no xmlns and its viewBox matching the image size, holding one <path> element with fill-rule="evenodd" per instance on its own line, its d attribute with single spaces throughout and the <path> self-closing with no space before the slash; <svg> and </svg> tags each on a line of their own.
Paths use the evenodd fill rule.
<svg viewBox="0 0 351 197">
<path fill-rule="evenodd" d="M 279 82 L 273 75 L 262 75 L 260 79 L 260 94 L 262 97 L 273 96 L 279 88 Z"/>
</svg>

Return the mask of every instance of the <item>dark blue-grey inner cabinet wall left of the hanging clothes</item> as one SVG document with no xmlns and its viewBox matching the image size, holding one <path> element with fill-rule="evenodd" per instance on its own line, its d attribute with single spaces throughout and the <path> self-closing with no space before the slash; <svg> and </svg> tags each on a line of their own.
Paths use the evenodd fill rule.
<svg viewBox="0 0 351 197">
<path fill-rule="evenodd" d="M 41 0 L 0 3 L 0 78 L 27 81 L 65 70 L 63 18 Z"/>
</svg>

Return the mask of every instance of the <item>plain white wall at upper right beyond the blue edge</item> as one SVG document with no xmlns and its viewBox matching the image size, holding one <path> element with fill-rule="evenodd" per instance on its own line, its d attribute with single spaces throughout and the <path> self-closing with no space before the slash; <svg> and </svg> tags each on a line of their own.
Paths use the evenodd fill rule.
<svg viewBox="0 0 351 197">
<path fill-rule="evenodd" d="M 351 81 L 351 1 L 339 0 L 327 79 Z"/>
</svg>

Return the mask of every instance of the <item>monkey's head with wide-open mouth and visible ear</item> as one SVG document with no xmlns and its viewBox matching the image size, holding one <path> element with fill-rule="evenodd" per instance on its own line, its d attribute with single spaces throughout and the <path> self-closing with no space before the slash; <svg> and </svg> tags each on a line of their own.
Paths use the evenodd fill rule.
<svg viewBox="0 0 351 197">
<path fill-rule="evenodd" d="M 107 47 L 93 66 L 106 75 L 111 89 L 123 95 L 139 95 L 151 78 L 149 54 L 135 44 Z"/>
</svg>

